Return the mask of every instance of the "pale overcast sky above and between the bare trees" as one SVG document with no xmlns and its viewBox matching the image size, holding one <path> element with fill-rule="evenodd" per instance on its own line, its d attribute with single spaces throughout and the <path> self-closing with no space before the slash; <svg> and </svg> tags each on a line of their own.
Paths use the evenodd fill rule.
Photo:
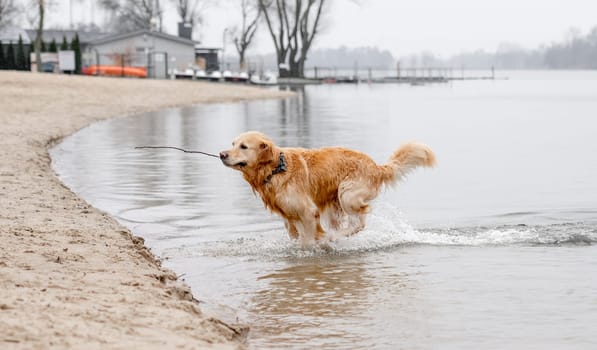
<svg viewBox="0 0 597 350">
<path fill-rule="evenodd" d="M 48 16 L 48 25 L 69 25 L 70 0 Z M 74 22 L 99 22 L 98 0 L 72 0 Z M 329 0 L 328 0 L 329 1 Z M 172 0 L 164 29 L 176 33 Z M 205 14 L 201 40 L 222 46 L 224 28 L 239 23 L 240 0 L 217 1 Z M 500 43 L 532 48 L 561 40 L 571 28 L 581 33 L 597 26 L 597 0 L 331 0 L 315 47 L 377 46 L 394 56 L 431 51 L 443 56 L 466 50 L 494 51 Z M 199 39 L 199 38 L 196 38 Z M 231 43 L 227 50 L 233 51 Z M 262 26 L 253 52 L 273 51 Z"/>
</svg>

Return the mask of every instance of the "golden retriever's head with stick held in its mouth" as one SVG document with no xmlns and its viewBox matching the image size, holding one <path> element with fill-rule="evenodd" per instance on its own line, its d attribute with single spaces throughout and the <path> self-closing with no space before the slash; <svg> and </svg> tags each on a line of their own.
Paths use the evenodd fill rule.
<svg viewBox="0 0 597 350">
<path fill-rule="evenodd" d="M 264 134 L 248 131 L 238 135 L 232 149 L 220 152 L 220 159 L 224 165 L 245 172 L 272 162 L 273 147 L 273 142 Z"/>
</svg>

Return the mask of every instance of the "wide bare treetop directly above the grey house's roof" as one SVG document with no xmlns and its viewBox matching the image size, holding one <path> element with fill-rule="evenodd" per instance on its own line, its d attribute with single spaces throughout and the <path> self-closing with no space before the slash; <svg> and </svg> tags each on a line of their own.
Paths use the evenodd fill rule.
<svg viewBox="0 0 597 350">
<path fill-rule="evenodd" d="M 113 30 L 162 31 L 164 9 L 160 0 L 100 0 L 100 5 L 112 16 Z"/>
</svg>

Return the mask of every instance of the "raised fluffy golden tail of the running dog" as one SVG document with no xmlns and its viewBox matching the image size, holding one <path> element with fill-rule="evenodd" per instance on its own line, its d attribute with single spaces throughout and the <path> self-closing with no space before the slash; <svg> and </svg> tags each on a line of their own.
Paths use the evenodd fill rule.
<svg viewBox="0 0 597 350">
<path fill-rule="evenodd" d="M 380 166 L 382 180 L 386 184 L 396 183 L 417 167 L 432 167 L 436 164 L 435 154 L 429 146 L 409 142 L 400 146 L 390 157 L 390 161 Z"/>
</svg>

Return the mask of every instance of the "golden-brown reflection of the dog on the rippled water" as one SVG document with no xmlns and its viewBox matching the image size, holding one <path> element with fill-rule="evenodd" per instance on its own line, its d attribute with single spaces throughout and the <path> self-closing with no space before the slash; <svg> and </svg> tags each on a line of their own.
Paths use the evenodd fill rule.
<svg viewBox="0 0 597 350">
<path fill-rule="evenodd" d="M 302 261 L 259 277 L 266 285 L 251 299 L 258 320 L 251 345 L 300 344 L 307 338 L 319 348 L 370 343 L 371 334 L 357 325 L 370 321 L 365 314 L 370 305 L 363 300 L 377 286 L 363 264 L 359 259 Z"/>
</svg>

